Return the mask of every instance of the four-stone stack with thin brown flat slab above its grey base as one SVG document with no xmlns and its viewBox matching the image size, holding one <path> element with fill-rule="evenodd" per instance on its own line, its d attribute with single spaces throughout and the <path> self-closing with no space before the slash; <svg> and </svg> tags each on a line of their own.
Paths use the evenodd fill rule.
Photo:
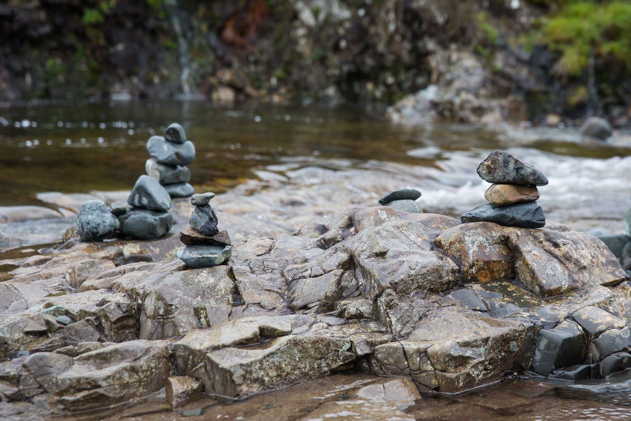
<svg viewBox="0 0 631 421">
<path fill-rule="evenodd" d="M 189 268 L 217 266 L 232 255 L 228 232 L 217 228 L 217 215 L 209 205 L 214 197 L 215 193 L 193 194 L 191 197 L 195 209 L 191 213 L 190 226 L 180 232 L 180 241 L 186 247 L 177 250 L 177 257 Z"/>
</svg>

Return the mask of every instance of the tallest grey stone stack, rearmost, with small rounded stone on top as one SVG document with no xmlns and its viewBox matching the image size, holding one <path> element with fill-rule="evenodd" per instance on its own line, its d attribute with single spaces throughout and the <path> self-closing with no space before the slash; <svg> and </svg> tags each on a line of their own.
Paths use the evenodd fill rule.
<svg viewBox="0 0 631 421">
<path fill-rule="evenodd" d="M 167 189 L 172 198 L 187 198 L 194 193 L 191 171 L 186 167 L 195 158 L 195 146 L 186 139 L 184 127 L 173 123 L 164 136 L 151 136 L 147 141 L 151 158 L 144 169 Z"/>
</svg>

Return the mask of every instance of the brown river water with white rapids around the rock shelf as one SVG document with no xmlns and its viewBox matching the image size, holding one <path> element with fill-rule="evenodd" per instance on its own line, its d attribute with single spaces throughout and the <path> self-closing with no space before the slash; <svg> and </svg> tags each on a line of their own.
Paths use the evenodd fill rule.
<svg viewBox="0 0 631 421">
<path fill-rule="evenodd" d="M 259 185 L 256 182 L 317 186 L 343 173 L 351 175 L 344 182 L 357 192 L 355 203 L 376 202 L 378 196 L 366 187 L 368 179 L 392 189 L 417 187 L 425 211 L 458 216 L 485 203 L 488 184 L 478 177 L 476 167 L 489 151 L 501 149 L 548 176 L 550 184 L 540 188 L 548 220 L 577 230 L 622 233 L 623 213 L 631 207 L 631 139 L 625 136 L 601 143 L 581 139 L 569 129 L 398 126 L 358 109 L 225 109 L 201 102 L 0 108 L 0 206 L 56 208 L 42 193 L 129 190 L 144 173 L 146 139 L 162 134 L 172 121 L 182 123 L 196 145 L 197 157 L 190 168 L 197 191 L 224 193 L 252 181 L 254 186 Z M 353 179 L 353 174 L 362 179 Z M 334 195 L 324 199 L 338 211 Z M 52 237 L 59 237 L 73 223 L 71 213 L 62 212 L 67 217 L 51 220 L 49 228 L 38 222 L 11 229 L 13 234 L 20 229 L 30 234 L 49 229 Z M 309 208 L 298 207 L 296 212 L 309 213 Z M 8 228 L 0 224 L 0 246 L 3 229 Z M 0 259 L 10 252 L 0 253 Z M 519 405 L 509 405 L 517 401 Z M 630 402 L 628 391 L 576 396 L 538 381 L 512 381 L 460 397 L 427 398 L 408 413 L 418 419 L 476 419 L 476 413 L 487 419 L 631 419 Z M 218 406 L 233 408 L 225 410 L 225 417 L 213 405 L 204 406 L 206 415 L 239 419 L 235 415 L 239 408 L 254 404 Z M 452 405 L 456 406 L 445 409 Z M 181 413 L 163 413 L 165 419 L 172 415 Z"/>
</svg>

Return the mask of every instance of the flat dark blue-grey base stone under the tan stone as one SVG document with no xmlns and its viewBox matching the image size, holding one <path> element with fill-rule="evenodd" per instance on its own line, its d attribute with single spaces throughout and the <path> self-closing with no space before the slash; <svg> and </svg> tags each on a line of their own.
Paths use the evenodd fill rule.
<svg viewBox="0 0 631 421">
<path fill-rule="evenodd" d="M 546 225 L 543 208 L 536 203 L 510 206 L 480 205 L 460 216 L 463 223 L 495 222 L 504 227 L 541 228 Z"/>
</svg>

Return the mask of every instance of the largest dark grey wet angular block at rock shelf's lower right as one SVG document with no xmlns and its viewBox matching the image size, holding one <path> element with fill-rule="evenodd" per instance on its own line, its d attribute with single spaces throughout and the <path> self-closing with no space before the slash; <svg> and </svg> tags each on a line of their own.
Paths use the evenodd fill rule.
<svg viewBox="0 0 631 421">
<path fill-rule="evenodd" d="M 562 321 L 554 329 L 543 329 L 537 337 L 533 369 L 548 376 L 555 369 L 581 364 L 585 344 L 577 324 Z"/>
</svg>

